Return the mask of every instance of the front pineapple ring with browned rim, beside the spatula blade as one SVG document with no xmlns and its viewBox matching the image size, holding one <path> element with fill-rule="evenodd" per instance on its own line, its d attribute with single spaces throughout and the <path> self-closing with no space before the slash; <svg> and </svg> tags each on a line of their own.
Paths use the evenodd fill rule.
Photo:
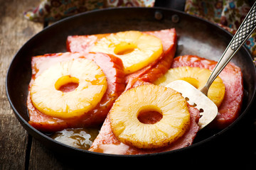
<svg viewBox="0 0 256 170">
<path fill-rule="evenodd" d="M 145 124 L 141 112 L 161 113 L 161 120 Z M 188 129 L 190 113 L 186 100 L 173 89 L 154 84 L 125 91 L 110 110 L 112 132 L 120 142 L 143 149 L 165 147 Z"/>
</svg>

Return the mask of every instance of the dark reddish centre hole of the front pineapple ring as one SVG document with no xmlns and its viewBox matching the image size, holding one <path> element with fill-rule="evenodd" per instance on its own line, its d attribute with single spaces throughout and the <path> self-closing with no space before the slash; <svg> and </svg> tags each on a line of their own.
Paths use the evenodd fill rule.
<svg viewBox="0 0 256 170">
<path fill-rule="evenodd" d="M 137 118 L 141 123 L 154 124 L 159 122 L 163 118 L 163 115 L 161 114 L 160 109 L 146 108 L 139 112 Z"/>
</svg>

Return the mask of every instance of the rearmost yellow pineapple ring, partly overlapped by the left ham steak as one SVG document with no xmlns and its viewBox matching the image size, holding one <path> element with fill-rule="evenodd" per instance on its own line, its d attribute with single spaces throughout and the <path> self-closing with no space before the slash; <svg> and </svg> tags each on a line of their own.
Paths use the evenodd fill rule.
<svg viewBox="0 0 256 170">
<path fill-rule="evenodd" d="M 159 58 L 163 47 L 161 40 L 154 35 L 130 30 L 100 39 L 90 51 L 119 57 L 124 64 L 124 73 L 131 74 Z"/>
</svg>

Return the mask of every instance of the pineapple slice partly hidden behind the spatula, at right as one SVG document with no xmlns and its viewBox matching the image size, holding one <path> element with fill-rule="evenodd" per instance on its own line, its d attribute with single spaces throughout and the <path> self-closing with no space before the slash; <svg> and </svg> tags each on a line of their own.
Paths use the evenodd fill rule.
<svg viewBox="0 0 256 170">
<path fill-rule="evenodd" d="M 210 77 L 209 69 L 201 69 L 198 67 L 177 67 L 169 69 L 163 77 L 157 79 L 154 84 L 159 86 L 166 86 L 171 81 L 184 80 L 196 87 L 196 89 L 202 89 L 206 84 L 206 81 Z M 225 84 L 222 79 L 217 77 L 213 84 L 211 84 L 208 91 L 208 98 L 212 100 L 217 107 L 220 106 L 225 96 Z"/>
</svg>

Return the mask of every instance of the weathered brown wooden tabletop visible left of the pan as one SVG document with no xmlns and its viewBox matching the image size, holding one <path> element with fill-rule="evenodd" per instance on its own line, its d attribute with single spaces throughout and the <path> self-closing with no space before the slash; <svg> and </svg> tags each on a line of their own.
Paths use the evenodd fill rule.
<svg viewBox="0 0 256 170">
<path fill-rule="evenodd" d="M 43 23 L 23 17 L 24 11 L 38 3 L 0 0 L 0 169 L 63 169 L 61 160 L 18 123 L 5 90 L 6 73 L 14 55 L 43 29 Z"/>
</svg>

